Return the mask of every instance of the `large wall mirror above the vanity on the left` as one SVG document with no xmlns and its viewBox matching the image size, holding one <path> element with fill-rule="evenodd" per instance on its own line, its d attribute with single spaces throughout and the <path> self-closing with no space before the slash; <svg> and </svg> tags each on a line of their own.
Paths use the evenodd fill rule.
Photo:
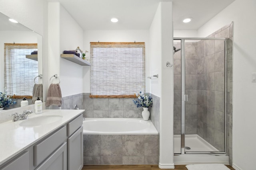
<svg viewBox="0 0 256 170">
<path fill-rule="evenodd" d="M 42 35 L 0 13 L 0 92 L 13 96 L 6 109 L 32 104 L 34 84 L 42 84 Z M 15 19 L 15 18 L 14 18 Z M 42 99 L 41 99 L 42 100 Z"/>
</svg>

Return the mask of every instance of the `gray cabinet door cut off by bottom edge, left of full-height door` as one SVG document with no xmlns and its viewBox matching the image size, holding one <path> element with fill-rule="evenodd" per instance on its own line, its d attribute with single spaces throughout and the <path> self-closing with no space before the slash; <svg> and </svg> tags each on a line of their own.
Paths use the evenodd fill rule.
<svg viewBox="0 0 256 170">
<path fill-rule="evenodd" d="M 35 170 L 67 170 L 67 143 L 62 144 Z"/>
</svg>

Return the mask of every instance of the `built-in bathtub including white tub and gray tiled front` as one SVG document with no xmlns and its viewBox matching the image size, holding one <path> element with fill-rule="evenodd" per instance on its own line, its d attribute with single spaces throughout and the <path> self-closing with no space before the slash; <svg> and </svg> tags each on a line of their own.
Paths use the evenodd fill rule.
<svg viewBox="0 0 256 170">
<path fill-rule="evenodd" d="M 84 164 L 158 164 L 159 134 L 142 118 L 85 118 Z"/>
</svg>

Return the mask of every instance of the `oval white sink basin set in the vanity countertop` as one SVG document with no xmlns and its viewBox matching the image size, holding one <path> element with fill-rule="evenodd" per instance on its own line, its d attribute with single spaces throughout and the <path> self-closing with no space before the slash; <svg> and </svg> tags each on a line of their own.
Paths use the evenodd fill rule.
<svg viewBox="0 0 256 170">
<path fill-rule="evenodd" d="M 59 121 L 62 117 L 62 115 L 42 115 L 34 118 L 28 118 L 27 120 L 22 121 L 19 125 L 23 127 L 47 125 Z"/>
</svg>

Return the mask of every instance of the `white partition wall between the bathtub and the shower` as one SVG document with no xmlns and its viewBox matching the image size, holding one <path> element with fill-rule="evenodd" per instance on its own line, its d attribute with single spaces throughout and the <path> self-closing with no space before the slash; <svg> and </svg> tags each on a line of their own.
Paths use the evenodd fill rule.
<svg viewBox="0 0 256 170">
<path fill-rule="evenodd" d="M 173 152 L 173 63 L 172 2 L 160 2 L 150 26 L 150 93 L 160 97 L 160 168 L 174 168 Z"/>
</svg>

